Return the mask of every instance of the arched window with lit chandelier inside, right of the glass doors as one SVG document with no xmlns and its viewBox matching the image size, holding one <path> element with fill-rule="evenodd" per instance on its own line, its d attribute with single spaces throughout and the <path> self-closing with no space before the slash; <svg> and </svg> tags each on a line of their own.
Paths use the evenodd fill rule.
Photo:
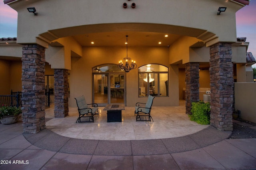
<svg viewBox="0 0 256 170">
<path fill-rule="evenodd" d="M 160 64 L 147 64 L 138 68 L 139 97 L 148 94 L 155 97 L 168 96 L 168 67 Z"/>
</svg>

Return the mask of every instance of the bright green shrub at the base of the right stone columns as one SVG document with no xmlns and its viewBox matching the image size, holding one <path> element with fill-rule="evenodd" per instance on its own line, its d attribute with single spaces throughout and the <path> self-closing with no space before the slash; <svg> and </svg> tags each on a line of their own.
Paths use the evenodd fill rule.
<svg viewBox="0 0 256 170">
<path fill-rule="evenodd" d="M 192 102 L 191 107 L 192 115 L 188 115 L 191 121 L 195 121 L 201 125 L 210 124 L 210 103 L 200 102 Z"/>
</svg>

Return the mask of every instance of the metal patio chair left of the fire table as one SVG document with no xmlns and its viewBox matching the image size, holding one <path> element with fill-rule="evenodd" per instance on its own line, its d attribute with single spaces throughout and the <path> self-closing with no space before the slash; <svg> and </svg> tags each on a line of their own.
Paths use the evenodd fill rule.
<svg viewBox="0 0 256 170">
<path fill-rule="evenodd" d="M 76 123 L 77 121 L 78 122 L 94 122 L 94 115 L 99 115 L 98 104 L 96 103 L 86 104 L 84 96 L 80 96 L 75 99 L 76 99 L 76 105 L 78 107 L 78 113 L 79 113 L 79 117 L 77 118 Z M 92 105 L 93 107 L 88 107 L 88 105 Z M 81 118 L 84 118 L 85 120 L 82 121 Z"/>
</svg>

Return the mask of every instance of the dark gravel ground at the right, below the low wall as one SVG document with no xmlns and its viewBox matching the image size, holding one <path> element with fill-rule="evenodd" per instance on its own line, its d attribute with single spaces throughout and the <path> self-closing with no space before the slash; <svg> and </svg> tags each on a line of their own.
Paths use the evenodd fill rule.
<svg viewBox="0 0 256 170">
<path fill-rule="evenodd" d="M 243 119 L 235 119 L 236 121 L 240 121 L 241 123 L 247 123 L 251 125 L 251 127 L 255 126 L 256 123 L 252 123 Z M 233 131 L 232 135 L 229 139 L 250 139 L 250 138 L 256 138 L 256 129 L 252 129 L 248 126 L 239 125 L 238 123 L 233 123 Z"/>
</svg>

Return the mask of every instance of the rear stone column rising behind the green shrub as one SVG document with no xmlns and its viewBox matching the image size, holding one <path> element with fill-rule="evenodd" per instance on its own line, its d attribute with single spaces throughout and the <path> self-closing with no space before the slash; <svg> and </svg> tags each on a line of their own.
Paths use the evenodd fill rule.
<svg viewBox="0 0 256 170">
<path fill-rule="evenodd" d="M 199 101 L 199 63 L 186 63 L 186 114 L 191 114 L 192 102 Z"/>
</svg>

